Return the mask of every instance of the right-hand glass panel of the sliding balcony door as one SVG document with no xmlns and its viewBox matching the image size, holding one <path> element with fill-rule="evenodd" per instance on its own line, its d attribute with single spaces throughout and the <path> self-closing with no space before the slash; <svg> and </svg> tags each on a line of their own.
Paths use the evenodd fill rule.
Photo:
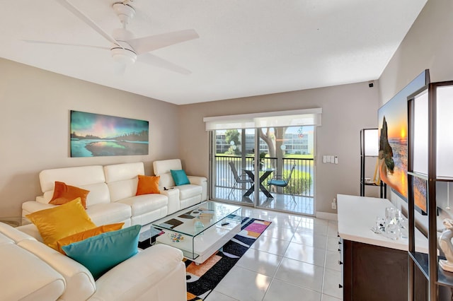
<svg viewBox="0 0 453 301">
<path fill-rule="evenodd" d="M 256 205 L 313 215 L 315 126 L 274 126 L 258 134 L 265 142 L 260 145 L 266 153 L 263 171 L 272 170 L 263 180 L 272 198 Z"/>
</svg>

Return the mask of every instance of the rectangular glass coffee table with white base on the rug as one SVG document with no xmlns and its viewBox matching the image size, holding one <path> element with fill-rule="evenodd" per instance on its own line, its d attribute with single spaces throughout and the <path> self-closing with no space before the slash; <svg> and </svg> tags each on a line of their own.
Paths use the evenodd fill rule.
<svg viewBox="0 0 453 301">
<path fill-rule="evenodd" d="M 156 220 L 152 227 L 165 233 L 156 244 L 168 244 L 183 251 L 184 257 L 202 264 L 241 231 L 239 206 L 206 201 Z"/>
</svg>

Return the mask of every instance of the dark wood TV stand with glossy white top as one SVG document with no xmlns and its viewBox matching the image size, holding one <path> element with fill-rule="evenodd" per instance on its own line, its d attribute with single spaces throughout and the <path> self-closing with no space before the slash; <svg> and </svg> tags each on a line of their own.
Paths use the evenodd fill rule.
<svg viewBox="0 0 453 301">
<path fill-rule="evenodd" d="M 364 196 L 339 194 L 337 200 L 343 300 L 408 300 L 408 240 L 390 240 L 370 230 L 393 205 Z M 420 252 L 428 252 L 422 236 L 418 232 Z M 416 278 L 415 300 L 427 300 L 425 278 Z"/>
</svg>

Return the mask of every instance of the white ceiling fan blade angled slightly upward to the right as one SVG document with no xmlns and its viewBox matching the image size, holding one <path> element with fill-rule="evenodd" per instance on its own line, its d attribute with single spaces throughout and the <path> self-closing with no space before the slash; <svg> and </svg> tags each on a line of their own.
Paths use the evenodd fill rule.
<svg viewBox="0 0 453 301">
<path fill-rule="evenodd" d="M 135 53 L 142 54 L 155 49 L 175 45 L 180 42 L 194 40 L 200 37 L 193 29 L 179 30 L 172 33 L 162 33 L 160 35 L 150 35 L 149 37 L 139 37 L 137 39 L 127 40 Z"/>
</svg>

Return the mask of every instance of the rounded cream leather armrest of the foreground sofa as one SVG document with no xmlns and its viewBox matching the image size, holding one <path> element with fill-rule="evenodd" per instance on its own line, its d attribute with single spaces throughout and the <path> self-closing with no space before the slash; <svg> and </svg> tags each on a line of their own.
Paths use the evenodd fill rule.
<svg viewBox="0 0 453 301">
<path fill-rule="evenodd" d="M 185 300 L 182 260 L 183 252 L 165 244 L 144 249 L 101 276 L 90 300 Z"/>
</svg>

